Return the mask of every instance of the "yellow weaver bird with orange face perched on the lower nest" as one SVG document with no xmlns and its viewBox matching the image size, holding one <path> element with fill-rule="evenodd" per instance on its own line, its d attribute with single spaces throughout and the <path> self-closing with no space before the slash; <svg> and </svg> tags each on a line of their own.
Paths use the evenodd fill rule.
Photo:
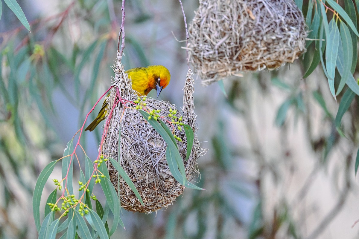
<svg viewBox="0 0 359 239">
<path fill-rule="evenodd" d="M 171 79 L 168 69 L 164 66 L 137 67 L 126 71 L 126 73 L 131 78 L 132 89 L 137 91 L 139 96 L 147 95 L 152 89 L 156 89 L 158 97 Z M 105 100 L 96 119 L 85 130 L 94 130 L 105 119 L 107 107 L 108 104 Z"/>
</svg>

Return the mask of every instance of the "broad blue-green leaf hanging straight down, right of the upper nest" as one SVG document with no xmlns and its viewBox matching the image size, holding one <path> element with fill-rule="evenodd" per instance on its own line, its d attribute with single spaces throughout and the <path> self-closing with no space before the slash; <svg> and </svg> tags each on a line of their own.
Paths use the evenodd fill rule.
<svg viewBox="0 0 359 239">
<path fill-rule="evenodd" d="M 340 33 L 334 18 L 329 23 L 329 35 L 327 35 L 327 50 L 325 52 L 325 63 L 328 72 L 328 84 L 332 96 L 335 98 L 334 77 L 336 60 L 338 56 Z"/>
</svg>

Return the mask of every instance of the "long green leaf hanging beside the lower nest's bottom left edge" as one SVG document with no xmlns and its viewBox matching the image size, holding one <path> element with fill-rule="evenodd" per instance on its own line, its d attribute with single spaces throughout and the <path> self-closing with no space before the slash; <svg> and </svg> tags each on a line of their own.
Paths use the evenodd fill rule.
<svg viewBox="0 0 359 239">
<path fill-rule="evenodd" d="M 120 201 L 118 199 L 118 195 L 116 193 L 115 187 L 112 185 L 111 181 L 109 180 L 110 176 L 108 174 L 106 165 L 102 163 L 98 167 L 98 169 L 105 176 L 104 178 L 102 178 L 100 184 L 103 193 L 106 197 L 106 202 L 108 203 L 109 208 L 113 213 L 113 224 L 109 233 L 109 236 L 111 236 L 116 231 L 118 223 L 120 223 L 120 225 L 124 227 L 123 222 L 120 218 Z"/>
</svg>

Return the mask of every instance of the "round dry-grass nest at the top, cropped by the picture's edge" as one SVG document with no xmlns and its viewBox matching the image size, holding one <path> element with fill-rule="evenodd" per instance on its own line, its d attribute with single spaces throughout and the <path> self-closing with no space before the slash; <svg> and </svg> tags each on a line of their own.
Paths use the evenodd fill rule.
<svg viewBox="0 0 359 239">
<path fill-rule="evenodd" d="M 293 0 L 200 0 L 189 26 L 190 60 L 202 83 L 274 70 L 306 51 L 306 25 Z"/>
</svg>

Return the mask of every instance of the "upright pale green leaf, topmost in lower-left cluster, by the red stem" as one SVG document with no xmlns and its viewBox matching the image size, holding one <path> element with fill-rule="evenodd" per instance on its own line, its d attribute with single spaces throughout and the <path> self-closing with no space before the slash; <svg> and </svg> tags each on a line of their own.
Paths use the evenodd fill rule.
<svg viewBox="0 0 359 239">
<path fill-rule="evenodd" d="M 64 190 L 67 187 L 67 190 L 69 190 L 70 195 L 74 194 L 74 188 L 73 188 L 73 168 L 74 168 L 74 157 L 70 154 L 73 153 L 74 145 L 73 145 L 72 138 L 69 142 L 66 144 L 66 148 L 64 150 L 64 158 L 62 158 L 62 178 L 65 178 L 67 176 L 67 180 L 64 180 Z M 66 157 L 67 156 L 67 157 Z"/>
</svg>

